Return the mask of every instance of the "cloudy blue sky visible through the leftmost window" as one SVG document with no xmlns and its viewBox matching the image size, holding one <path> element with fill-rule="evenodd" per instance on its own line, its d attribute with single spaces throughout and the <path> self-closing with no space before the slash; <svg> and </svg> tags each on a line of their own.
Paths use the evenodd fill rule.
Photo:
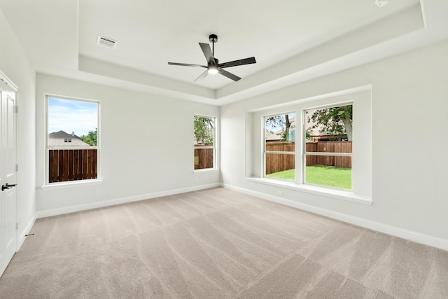
<svg viewBox="0 0 448 299">
<path fill-rule="evenodd" d="M 78 137 L 98 127 L 98 103 L 48 97 L 48 134 L 63 130 Z"/>
</svg>

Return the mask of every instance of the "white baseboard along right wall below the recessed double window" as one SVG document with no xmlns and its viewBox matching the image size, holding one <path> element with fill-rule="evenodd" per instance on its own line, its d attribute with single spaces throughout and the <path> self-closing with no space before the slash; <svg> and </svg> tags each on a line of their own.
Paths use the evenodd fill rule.
<svg viewBox="0 0 448 299">
<path fill-rule="evenodd" d="M 350 216 L 350 215 L 342 214 L 342 213 L 339 213 L 336 211 L 330 211 L 328 209 L 322 209 L 320 207 L 314 207 L 309 204 L 303 204 L 301 202 L 295 202 L 293 200 L 286 200 L 285 198 L 282 198 L 282 197 L 267 195 L 265 193 L 260 193 L 260 192 L 249 190 L 246 188 L 231 186 L 231 185 L 224 184 L 224 183 L 221 183 L 221 186 L 224 188 L 231 189 L 231 190 L 239 191 L 241 193 L 246 193 L 249 195 L 260 197 L 265 200 L 270 200 L 272 202 L 284 204 L 289 207 L 295 207 L 297 209 L 302 209 L 304 211 L 310 211 L 311 213 L 314 213 L 314 214 L 327 216 L 329 218 L 337 219 L 339 221 L 344 221 L 346 223 L 351 223 L 354 225 L 362 226 L 363 228 L 368 228 L 370 230 L 376 230 L 378 232 L 384 232 L 385 234 L 388 234 L 388 235 L 393 235 L 395 237 L 400 237 L 402 239 L 408 239 L 409 241 L 412 241 L 412 242 L 425 244 L 428 246 L 433 246 L 433 247 L 448 251 L 448 240 L 447 239 L 440 239 L 440 238 L 433 237 L 430 235 L 421 234 L 420 232 L 414 232 L 412 230 L 405 230 L 402 228 L 397 228 L 392 225 L 379 223 L 379 222 L 375 222 L 375 221 L 370 221 L 370 220 L 367 220 L 364 218 Z"/>
</svg>

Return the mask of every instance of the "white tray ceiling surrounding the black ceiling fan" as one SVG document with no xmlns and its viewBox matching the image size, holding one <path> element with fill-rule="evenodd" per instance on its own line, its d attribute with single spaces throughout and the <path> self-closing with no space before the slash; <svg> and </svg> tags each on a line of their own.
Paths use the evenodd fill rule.
<svg viewBox="0 0 448 299">
<path fill-rule="evenodd" d="M 36 71 L 158 95 L 227 104 L 448 38 L 448 0 L 0 0 Z M 207 76 L 198 45 L 218 35 Z M 97 36 L 117 41 L 111 50 Z"/>
</svg>

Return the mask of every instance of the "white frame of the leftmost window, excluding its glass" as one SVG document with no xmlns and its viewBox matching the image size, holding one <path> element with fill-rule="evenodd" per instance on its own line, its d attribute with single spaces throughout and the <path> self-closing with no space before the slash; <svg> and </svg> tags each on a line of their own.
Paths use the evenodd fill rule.
<svg viewBox="0 0 448 299">
<path fill-rule="evenodd" d="M 89 103 L 95 103 L 97 104 L 97 146 L 50 146 L 49 145 L 49 132 L 48 132 L 48 99 L 49 98 L 56 98 L 56 99 L 64 99 L 64 100 L 70 100 L 70 101 L 78 101 L 78 102 L 89 102 Z M 83 99 L 79 97 L 69 97 L 65 95 L 53 95 L 53 94 L 45 94 L 45 185 L 44 188 L 48 187 L 55 187 L 55 186 L 64 186 L 64 185 L 77 185 L 77 184 L 85 184 L 85 183 L 96 183 L 101 182 L 101 122 L 100 122 L 100 115 L 101 115 L 101 102 L 99 100 L 94 99 Z M 66 142 L 64 141 L 64 144 Z M 68 143 L 68 142 L 67 142 Z M 58 182 L 52 182 L 50 183 L 50 170 L 49 170 L 49 163 L 50 163 L 50 149 L 52 150 L 58 150 L 58 149 L 78 149 L 78 150 L 84 150 L 84 149 L 96 149 L 97 150 L 97 177 L 93 179 L 78 179 L 78 180 L 71 180 L 71 181 L 58 181 Z"/>
</svg>

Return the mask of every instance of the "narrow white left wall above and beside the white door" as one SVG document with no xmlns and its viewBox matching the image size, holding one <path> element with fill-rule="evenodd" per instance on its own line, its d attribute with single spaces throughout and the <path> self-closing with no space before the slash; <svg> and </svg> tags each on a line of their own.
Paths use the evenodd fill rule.
<svg viewBox="0 0 448 299">
<path fill-rule="evenodd" d="M 36 215 L 35 81 L 27 55 L 0 11 L 0 70 L 18 86 L 18 239 L 23 242 Z"/>
</svg>

